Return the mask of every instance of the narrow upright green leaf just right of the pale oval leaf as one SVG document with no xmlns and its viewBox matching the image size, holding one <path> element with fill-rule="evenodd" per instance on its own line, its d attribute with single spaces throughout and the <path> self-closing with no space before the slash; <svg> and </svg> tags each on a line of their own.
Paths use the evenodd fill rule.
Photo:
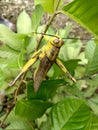
<svg viewBox="0 0 98 130">
<path fill-rule="evenodd" d="M 43 16 L 43 8 L 40 5 L 35 6 L 35 11 L 32 13 L 32 29 L 36 31 Z"/>
</svg>

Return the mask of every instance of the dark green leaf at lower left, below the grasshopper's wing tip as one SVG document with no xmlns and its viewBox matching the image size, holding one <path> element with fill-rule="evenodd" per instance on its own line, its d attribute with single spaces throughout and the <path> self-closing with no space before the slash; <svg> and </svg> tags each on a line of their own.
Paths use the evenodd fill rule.
<svg viewBox="0 0 98 130">
<path fill-rule="evenodd" d="M 37 119 L 52 105 L 41 100 L 19 100 L 15 107 L 15 114 L 24 118 Z"/>
</svg>

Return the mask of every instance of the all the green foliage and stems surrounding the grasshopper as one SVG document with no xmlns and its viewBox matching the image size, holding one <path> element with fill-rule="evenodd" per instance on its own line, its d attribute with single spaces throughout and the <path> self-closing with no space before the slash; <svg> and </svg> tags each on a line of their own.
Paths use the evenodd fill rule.
<svg viewBox="0 0 98 130">
<path fill-rule="evenodd" d="M 74 0 L 64 5 L 63 0 L 35 0 L 35 11 L 30 16 L 23 11 L 17 19 L 17 33 L 0 24 L 0 91 L 7 98 L 0 101 L 1 127 L 7 129 L 41 130 L 97 130 L 98 129 L 98 17 L 97 0 Z M 51 6 L 49 6 L 49 4 Z M 40 21 L 44 11 L 50 13 L 48 24 Z M 55 34 L 52 20 L 59 13 L 65 13 L 94 34 L 96 40 L 88 41 L 83 50 L 80 40 L 65 40 L 59 58 L 68 71 L 77 79 L 72 83 L 54 64 L 34 92 L 32 72 L 13 87 L 9 83 L 19 73 L 37 46 L 39 33 Z M 91 19 L 91 20 L 90 20 Z M 67 37 L 71 25 L 58 30 L 61 37 Z M 47 39 L 50 37 L 47 36 Z M 46 43 L 41 41 L 40 48 Z M 39 46 L 38 46 L 39 47 Z M 21 88 L 20 88 L 21 87 Z M 14 101 L 15 98 L 15 101 Z M 16 101 L 17 99 L 17 101 Z M 4 104 L 5 103 L 5 104 Z M 5 120 L 5 109 L 8 116 Z"/>
</svg>

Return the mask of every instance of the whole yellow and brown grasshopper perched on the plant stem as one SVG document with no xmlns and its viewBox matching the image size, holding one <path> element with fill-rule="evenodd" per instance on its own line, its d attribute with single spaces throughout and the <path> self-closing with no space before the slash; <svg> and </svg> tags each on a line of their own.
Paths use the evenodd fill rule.
<svg viewBox="0 0 98 130">
<path fill-rule="evenodd" d="M 11 86 L 30 68 L 38 59 L 40 60 L 39 67 L 34 72 L 34 90 L 38 91 L 42 80 L 45 78 L 47 72 L 51 66 L 56 63 L 61 70 L 73 81 L 76 80 L 67 71 L 62 62 L 57 58 L 61 46 L 63 45 L 63 40 L 59 36 L 52 37 L 46 45 L 41 49 L 36 51 L 31 59 L 24 65 L 23 69 L 19 75 L 11 82 Z"/>
</svg>

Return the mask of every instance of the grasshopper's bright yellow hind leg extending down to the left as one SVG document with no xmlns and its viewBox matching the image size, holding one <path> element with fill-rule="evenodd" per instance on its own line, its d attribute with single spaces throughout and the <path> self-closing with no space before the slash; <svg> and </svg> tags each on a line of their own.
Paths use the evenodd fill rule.
<svg viewBox="0 0 98 130">
<path fill-rule="evenodd" d="M 10 86 L 13 86 L 16 81 L 37 61 L 39 58 L 40 50 L 35 52 L 32 56 L 32 58 L 24 65 L 21 72 L 17 75 L 17 77 L 10 83 Z"/>
</svg>

